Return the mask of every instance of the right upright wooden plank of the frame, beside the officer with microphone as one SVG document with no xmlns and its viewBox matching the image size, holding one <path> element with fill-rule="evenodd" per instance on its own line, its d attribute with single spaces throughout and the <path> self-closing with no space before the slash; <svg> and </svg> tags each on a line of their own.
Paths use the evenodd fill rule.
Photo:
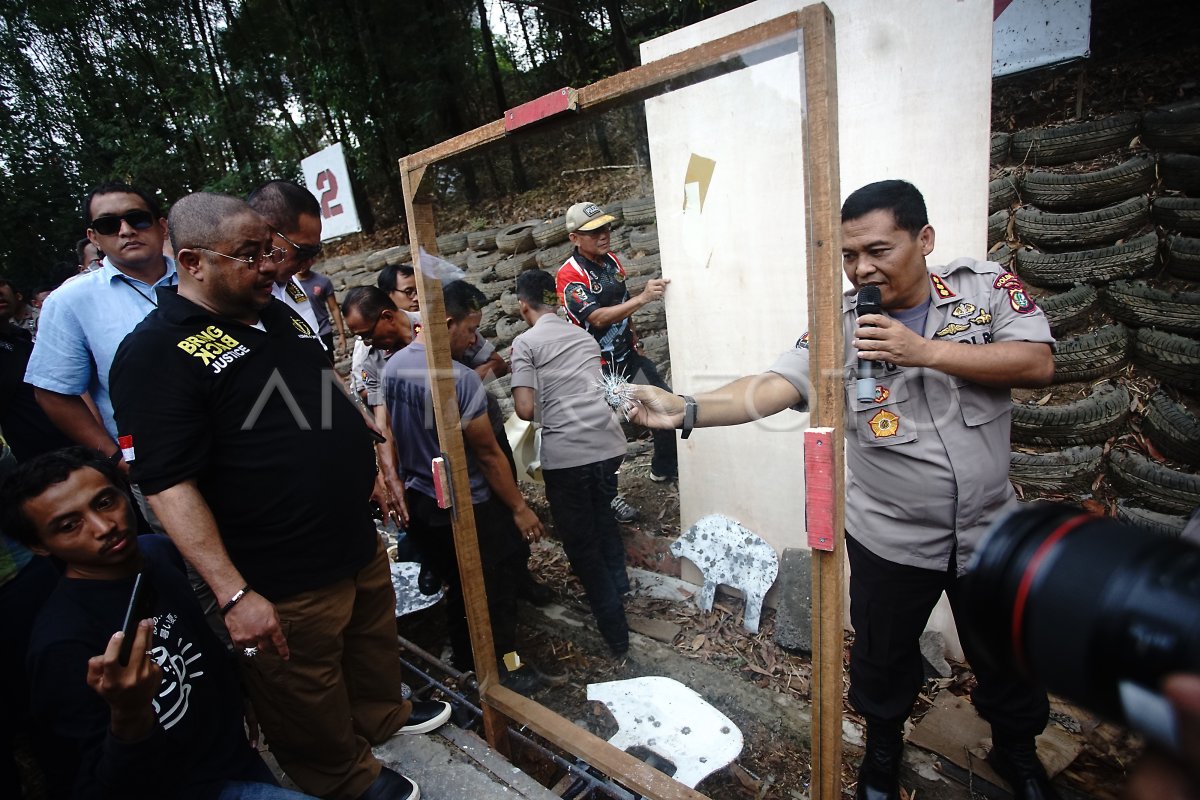
<svg viewBox="0 0 1200 800">
<path fill-rule="evenodd" d="M 841 198 L 838 67 L 827 6 L 798 12 L 804 37 L 803 146 L 808 184 L 809 341 L 812 427 L 833 428 L 833 548 L 812 551 L 812 800 L 841 798 L 842 554 L 845 547 L 845 398 L 841 365 Z"/>
</svg>

